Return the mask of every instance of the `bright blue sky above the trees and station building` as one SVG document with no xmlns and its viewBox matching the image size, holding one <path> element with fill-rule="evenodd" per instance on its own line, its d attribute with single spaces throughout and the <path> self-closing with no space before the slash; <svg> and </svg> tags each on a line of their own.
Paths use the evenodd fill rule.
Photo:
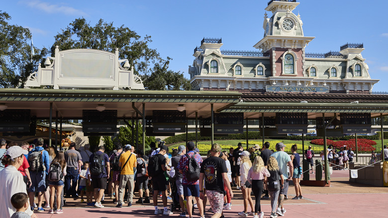
<svg viewBox="0 0 388 218">
<path fill-rule="evenodd" d="M 93 3 L 92 3 L 93 2 Z M 34 46 L 49 48 L 54 35 L 79 17 L 92 25 L 102 18 L 125 25 L 139 35 L 150 35 L 170 69 L 185 72 L 192 65 L 195 46 L 203 37 L 222 37 L 225 50 L 255 50 L 263 38 L 268 0 L 1 0 L 11 24 L 28 27 Z M 316 37 L 306 52 L 339 51 L 347 42 L 364 43 L 362 52 L 373 79 L 373 91 L 388 91 L 388 25 L 386 0 L 299 0 L 293 11 L 301 16 L 305 36 Z M 271 12 L 267 12 L 271 15 Z"/>
</svg>

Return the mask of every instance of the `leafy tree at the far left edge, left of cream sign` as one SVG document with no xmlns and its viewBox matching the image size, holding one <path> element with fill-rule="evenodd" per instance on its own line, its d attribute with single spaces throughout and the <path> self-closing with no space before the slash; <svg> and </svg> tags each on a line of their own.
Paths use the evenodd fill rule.
<svg viewBox="0 0 388 218">
<path fill-rule="evenodd" d="M 22 86 L 28 76 L 37 71 L 38 64 L 44 63 L 46 48 L 37 49 L 31 57 L 31 32 L 29 29 L 10 25 L 11 17 L 0 10 L 0 87 Z M 32 61 L 31 61 L 32 59 Z"/>
</svg>

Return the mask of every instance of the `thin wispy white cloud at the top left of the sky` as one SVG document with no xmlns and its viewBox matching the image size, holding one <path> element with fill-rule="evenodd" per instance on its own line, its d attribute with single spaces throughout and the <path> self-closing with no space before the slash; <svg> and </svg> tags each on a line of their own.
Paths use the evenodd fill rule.
<svg viewBox="0 0 388 218">
<path fill-rule="evenodd" d="M 32 0 L 32 1 L 22 1 L 22 3 L 28 5 L 29 7 L 43 10 L 46 13 L 63 13 L 66 15 L 78 15 L 85 16 L 88 15 L 82 10 L 76 9 L 74 7 L 59 5 L 59 4 L 51 4 L 49 2 L 44 2 L 40 0 Z"/>
</svg>

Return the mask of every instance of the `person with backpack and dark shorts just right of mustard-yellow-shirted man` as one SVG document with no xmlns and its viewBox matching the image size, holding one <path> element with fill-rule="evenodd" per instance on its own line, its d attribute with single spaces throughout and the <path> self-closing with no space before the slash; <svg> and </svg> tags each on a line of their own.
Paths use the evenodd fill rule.
<svg viewBox="0 0 388 218">
<path fill-rule="evenodd" d="M 142 150 L 137 152 L 137 188 L 139 190 L 139 200 L 136 204 L 149 204 L 150 203 L 150 192 L 148 190 L 148 157 L 144 155 Z M 145 199 L 143 201 L 143 188 L 145 192 Z"/>
</svg>

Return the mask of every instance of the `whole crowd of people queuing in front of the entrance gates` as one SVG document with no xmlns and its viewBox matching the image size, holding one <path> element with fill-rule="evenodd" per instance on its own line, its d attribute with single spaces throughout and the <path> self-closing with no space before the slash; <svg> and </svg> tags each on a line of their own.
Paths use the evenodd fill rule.
<svg viewBox="0 0 388 218">
<path fill-rule="evenodd" d="M 295 189 L 292 199 L 303 199 L 296 144 L 291 147 L 291 155 L 285 152 L 282 142 L 276 144 L 276 151 L 269 149 L 269 142 L 262 148 L 255 145 L 248 150 L 239 143 L 229 152 L 213 144 L 204 159 L 194 142 L 171 152 L 163 141 L 158 146 L 151 142 L 150 147 L 146 155 L 142 150 L 135 153 L 134 146 L 117 143 L 108 155 L 104 146 L 91 151 L 86 144 L 77 150 L 76 143 L 72 142 L 64 152 L 45 146 L 42 138 L 34 144 L 22 142 L 20 145 L 14 142 L 8 145 L 0 139 L 0 192 L 3 194 L 0 208 L 8 212 L 5 217 L 37 218 L 36 214 L 41 212 L 64 213 L 66 198 L 78 199 L 78 193 L 80 203 L 103 208 L 107 194 L 117 208 L 125 203 L 127 207 L 150 204 L 152 198 L 155 215 L 171 215 L 170 200 L 174 209 L 180 209 L 181 217 L 194 217 L 193 208 L 196 208 L 199 217 L 204 218 L 209 203 L 212 218 L 222 218 L 223 211 L 232 209 L 232 187 L 236 187 L 244 203 L 239 216 L 263 218 L 260 200 L 271 198 L 270 217 L 275 218 L 286 213 L 283 202 L 287 199 L 290 180 Z M 313 173 L 315 154 L 311 146 L 304 154 Z M 354 155 L 351 149 L 341 148 L 337 152 L 332 146 L 327 154 L 330 163 L 337 157 L 338 165 L 345 167 Z M 133 202 L 135 191 L 138 200 Z M 158 207 L 160 198 L 163 209 Z"/>
</svg>

